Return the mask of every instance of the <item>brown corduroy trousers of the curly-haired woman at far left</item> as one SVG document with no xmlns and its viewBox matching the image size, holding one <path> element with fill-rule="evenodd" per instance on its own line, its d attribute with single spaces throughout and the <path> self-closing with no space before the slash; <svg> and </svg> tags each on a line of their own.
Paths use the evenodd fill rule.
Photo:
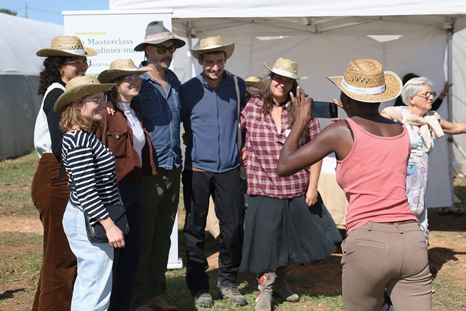
<svg viewBox="0 0 466 311">
<path fill-rule="evenodd" d="M 44 257 L 32 311 L 70 310 L 73 283 L 76 277 L 76 257 L 63 231 L 63 213 L 70 188 L 60 162 L 53 153 L 43 153 L 31 185 L 31 197 L 44 226 Z"/>
</svg>

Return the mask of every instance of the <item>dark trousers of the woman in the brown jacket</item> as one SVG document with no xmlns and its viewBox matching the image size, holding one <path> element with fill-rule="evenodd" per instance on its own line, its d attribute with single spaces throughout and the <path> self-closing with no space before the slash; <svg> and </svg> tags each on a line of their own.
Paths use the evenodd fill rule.
<svg viewBox="0 0 466 311">
<path fill-rule="evenodd" d="M 139 263 L 144 210 L 142 183 L 125 184 L 119 182 L 118 188 L 123 206 L 125 206 L 130 232 L 125 235 L 125 247 L 114 249 L 113 284 L 109 311 L 127 311 L 131 308 L 134 280 Z"/>
</svg>

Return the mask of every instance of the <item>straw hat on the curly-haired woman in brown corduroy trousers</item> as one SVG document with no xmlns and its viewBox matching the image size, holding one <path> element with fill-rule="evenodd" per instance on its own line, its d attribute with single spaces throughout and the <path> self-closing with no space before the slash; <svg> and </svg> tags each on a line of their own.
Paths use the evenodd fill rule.
<svg viewBox="0 0 466 311">
<path fill-rule="evenodd" d="M 36 55 L 48 58 L 50 56 L 95 56 L 99 54 L 92 47 L 83 47 L 77 36 L 58 36 L 52 39 L 50 49 L 41 49 Z"/>
</svg>

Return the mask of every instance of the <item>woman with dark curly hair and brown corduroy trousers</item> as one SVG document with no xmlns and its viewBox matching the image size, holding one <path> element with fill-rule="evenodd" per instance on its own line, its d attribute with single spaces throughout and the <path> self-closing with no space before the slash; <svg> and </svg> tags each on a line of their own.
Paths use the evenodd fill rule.
<svg viewBox="0 0 466 311">
<path fill-rule="evenodd" d="M 58 126 L 61 113 L 53 112 L 53 105 L 69 80 L 86 73 L 90 64 L 87 57 L 97 55 L 97 51 L 83 47 L 75 36 L 58 36 L 49 49 L 41 49 L 36 55 L 47 57 L 38 89 L 44 99 L 34 129 L 34 148 L 40 160 L 31 186 L 32 201 L 44 227 L 44 256 L 32 310 L 69 310 L 76 258 L 62 227 L 70 189 L 64 170 L 62 182 L 58 182 L 63 133 Z"/>
</svg>

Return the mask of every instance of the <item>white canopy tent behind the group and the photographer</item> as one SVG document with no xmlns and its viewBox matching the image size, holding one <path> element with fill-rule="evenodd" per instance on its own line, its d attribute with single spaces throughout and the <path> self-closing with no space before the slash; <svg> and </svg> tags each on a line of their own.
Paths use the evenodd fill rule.
<svg viewBox="0 0 466 311">
<path fill-rule="evenodd" d="M 226 68 L 238 76 L 263 76 L 267 71 L 262 63 L 273 65 L 278 57 L 297 61 L 299 74 L 310 77 L 302 82 L 304 90 L 323 101 L 339 97 L 325 76 L 341 75 L 349 60 L 360 58 L 375 58 L 400 77 L 406 73 L 425 75 L 436 84 L 434 90 L 441 92 L 445 48 L 448 42 L 451 46 L 452 34 L 466 27 L 466 3 L 462 0 L 110 0 L 110 10 L 149 9 L 172 9 L 174 31 L 188 38 L 191 46 L 197 38 L 208 36 L 235 42 Z M 186 61 L 189 57 L 178 53 L 176 58 Z M 177 69 L 180 65 L 175 61 Z M 451 56 L 447 65 L 450 77 L 446 78 L 452 81 Z M 185 70 L 191 69 L 185 66 Z M 445 99 L 439 113 L 449 119 L 450 112 L 451 120 L 447 103 Z M 457 117 L 454 121 L 466 120 Z M 427 205 L 451 206 L 452 144 L 445 137 L 436 145 L 429 159 Z"/>
</svg>

